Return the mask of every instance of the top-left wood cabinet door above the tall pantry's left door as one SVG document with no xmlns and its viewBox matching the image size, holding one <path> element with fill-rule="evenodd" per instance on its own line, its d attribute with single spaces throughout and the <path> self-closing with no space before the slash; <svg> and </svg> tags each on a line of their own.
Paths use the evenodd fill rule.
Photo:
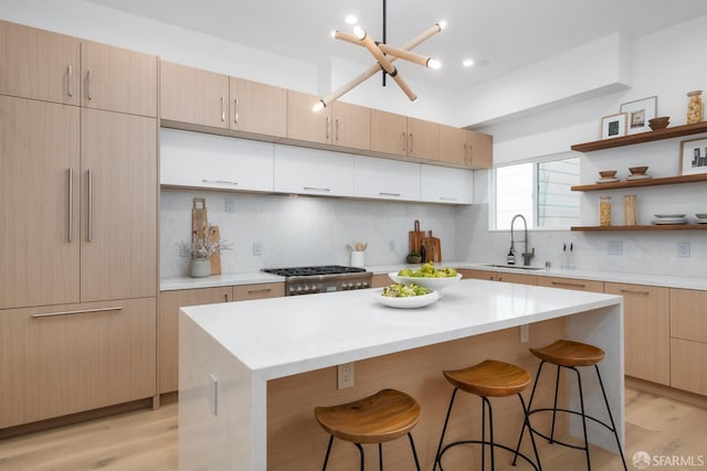
<svg viewBox="0 0 707 471">
<path fill-rule="evenodd" d="M 0 20 L 1 95 L 78 105 L 80 79 L 78 39 Z"/>
</svg>

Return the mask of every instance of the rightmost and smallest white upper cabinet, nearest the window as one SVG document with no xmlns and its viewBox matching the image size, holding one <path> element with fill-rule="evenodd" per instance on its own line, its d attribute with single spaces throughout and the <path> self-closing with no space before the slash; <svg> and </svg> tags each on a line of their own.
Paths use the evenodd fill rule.
<svg viewBox="0 0 707 471">
<path fill-rule="evenodd" d="M 474 173 L 471 170 L 420 165 L 421 200 L 430 203 L 472 204 Z"/>
</svg>

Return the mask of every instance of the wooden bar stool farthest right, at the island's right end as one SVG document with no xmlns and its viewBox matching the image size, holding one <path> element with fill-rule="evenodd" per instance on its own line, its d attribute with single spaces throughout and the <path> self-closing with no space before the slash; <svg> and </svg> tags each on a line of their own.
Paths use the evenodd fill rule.
<svg viewBox="0 0 707 471">
<path fill-rule="evenodd" d="M 606 399 L 606 392 L 604 390 L 604 384 L 601 381 L 601 374 L 599 374 L 599 362 L 601 362 L 604 358 L 604 351 L 601 350 L 598 346 L 594 345 L 589 345 L 585 343 L 580 343 L 580 342 L 574 342 L 571 340 L 557 340 L 553 343 L 544 346 L 541 349 L 529 349 L 530 353 L 532 353 L 535 356 L 537 356 L 538 358 L 540 358 L 540 365 L 538 366 L 538 374 L 536 375 L 535 378 L 535 384 L 532 385 L 532 393 L 530 394 L 530 402 L 528 403 L 528 416 L 536 414 L 536 413 L 540 413 L 540 411 L 552 411 L 552 426 L 550 429 L 550 436 L 546 436 L 541 432 L 539 432 L 538 430 L 536 430 L 535 428 L 532 428 L 530 426 L 530 421 L 527 421 L 526 424 L 524 424 L 523 428 L 524 430 L 520 431 L 520 437 L 518 438 L 518 447 L 517 449 L 520 448 L 520 442 L 523 441 L 523 432 L 525 431 L 526 425 L 528 427 L 528 429 L 530 430 L 530 437 L 532 437 L 534 435 L 539 435 L 540 437 L 547 439 L 550 443 L 558 443 L 561 445 L 563 447 L 569 447 L 569 448 L 574 448 L 577 450 L 584 450 L 584 453 L 587 454 L 587 469 L 591 470 L 591 461 L 589 459 L 589 445 L 588 445 L 588 440 L 587 440 L 587 419 L 593 420 L 597 424 L 600 424 L 602 426 L 604 426 L 605 428 L 608 428 L 609 430 L 611 430 L 614 435 L 614 438 L 616 439 L 616 446 L 619 447 L 619 454 L 621 454 L 621 461 L 623 462 L 623 469 L 627 470 L 626 468 L 626 460 L 623 456 L 623 450 L 621 448 L 621 441 L 619 440 L 619 433 L 616 431 L 616 426 L 614 424 L 614 419 L 613 416 L 611 415 L 611 408 L 609 407 L 609 399 Z M 535 396 L 535 392 L 536 388 L 538 386 L 538 379 L 540 378 L 540 373 L 542 372 L 542 366 L 545 366 L 546 363 L 550 363 L 553 365 L 557 365 L 557 377 L 555 381 L 555 403 L 552 405 L 552 408 L 546 407 L 546 408 L 538 408 L 538 409 L 532 409 L 532 398 Z M 609 420 L 611 421 L 611 425 L 605 424 L 599 419 L 597 419 L 595 417 L 592 416 L 588 416 L 585 414 L 584 410 L 584 396 L 583 396 L 583 392 L 582 392 L 582 378 L 581 375 L 579 373 L 578 367 L 579 366 L 594 366 L 594 371 L 597 372 L 597 378 L 599 379 L 599 386 L 601 387 L 601 394 L 604 397 L 604 404 L 606 405 L 606 413 L 609 414 Z M 572 370 L 574 373 L 577 373 L 577 384 L 578 384 L 578 388 L 579 388 L 579 404 L 580 404 L 580 410 L 569 410 L 569 409 L 563 409 L 563 408 L 559 408 L 557 407 L 557 395 L 558 395 L 558 389 L 559 389 L 559 385 L 560 385 L 560 368 L 568 368 L 568 370 Z M 567 413 L 567 414 L 573 414 L 577 416 L 581 416 L 582 417 L 582 430 L 584 432 L 584 446 L 580 447 L 577 445 L 572 445 L 572 443 L 567 443 L 563 441 L 559 441 L 555 439 L 555 419 L 557 417 L 557 413 Z M 515 460 L 514 460 L 514 464 L 515 464 Z"/>
</svg>

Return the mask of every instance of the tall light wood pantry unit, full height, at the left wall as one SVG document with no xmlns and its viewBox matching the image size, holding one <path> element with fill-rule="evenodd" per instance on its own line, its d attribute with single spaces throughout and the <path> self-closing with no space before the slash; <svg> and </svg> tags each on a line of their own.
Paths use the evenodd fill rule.
<svg viewBox="0 0 707 471">
<path fill-rule="evenodd" d="M 156 394 L 157 57 L 0 21 L 0 429 Z"/>
</svg>

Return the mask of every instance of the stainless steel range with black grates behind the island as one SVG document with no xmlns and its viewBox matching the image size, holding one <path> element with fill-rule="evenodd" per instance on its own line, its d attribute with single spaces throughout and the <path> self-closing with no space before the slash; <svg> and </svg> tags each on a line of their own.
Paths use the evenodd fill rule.
<svg viewBox="0 0 707 471">
<path fill-rule="evenodd" d="M 373 278 L 373 274 L 366 271 L 366 268 L 341 265 L 263 268 L 263 271 L 285 277 L 285 296 L 370 288 Z"/>
</svg>

